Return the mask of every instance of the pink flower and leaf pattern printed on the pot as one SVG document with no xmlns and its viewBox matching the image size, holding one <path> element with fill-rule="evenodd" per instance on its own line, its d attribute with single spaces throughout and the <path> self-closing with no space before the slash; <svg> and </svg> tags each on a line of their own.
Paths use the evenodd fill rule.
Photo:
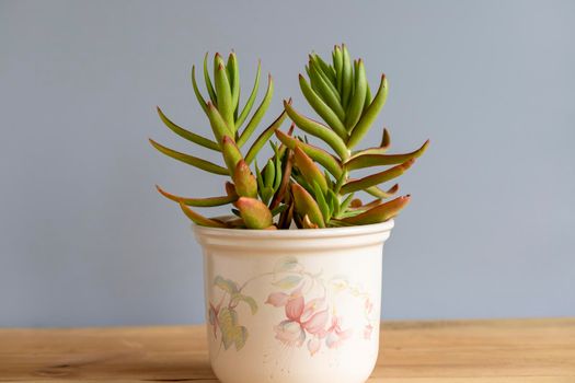
<svg viewBox="0 0 575 383">
<path fill-rule="evenodd" d="M 279 259 L 273 271 L 250 278 L 242 286 L 216 277 L 214 285 L 222 290 L 223 295 L 215 304 L 209 302 L 208 317 L 215 339 L 220 339 L 227 350 L 232 345 L 241 350 L 248 339 L 248 328 L 240 324 L 235 307 L 239 304 L 250 306 L 252 315 L 257 313 L 257 303 L 243 293 L 244 288 L 261 278 L 271 278 L 272 292 L 264 304 L 284 310 L 284 320 L 273 329 L 277 341 L 289 348 L 306 345 L 314 356 L 322 347 L 336 349 L 345 346 L 347 339 L 358 334 L 369 340 L 377 318 L 372 317 L 373 304 L 368 293 L 358 286 L 349 283 L 345 276 L 325 279 L 322 272 L 311 274 L 294 256 Z M 350 294 L 358 300 L 364 311 L 365 325 L 354 329 L 346 327 L 345 313 L 337 312 L 338 294 Z"/>
</svg>

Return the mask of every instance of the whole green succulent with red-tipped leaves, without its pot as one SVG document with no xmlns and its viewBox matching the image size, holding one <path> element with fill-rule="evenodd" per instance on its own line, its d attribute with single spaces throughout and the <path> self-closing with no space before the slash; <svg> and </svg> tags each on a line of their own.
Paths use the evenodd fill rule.
<svg viewBox="0 0 575 383">
<path fill-rule="evenodd" d="M 232 51 L 227 61 L 216 54 L 211 77 L 206 55 L 203 74 L 208 97 L 205 98 L 198 88 L 195 67 L 192 69 L 192 84 L 211 127 L 212 139 L 180 127 L 160 108 L 158 113 L 165 126 L 176 135 L 220 152 L 223 164 L 174 151 L 153 140 L 150 142 L 175 160 L 228 176 L 229 181 L 223 185 L 226 194 L 187 198 L 172 195 L 159 186 L 158 190 L 177 202 L 196 224 L 215 228 L 289 229 L 295 224 L 300 229 L 318 229 L 379 223 L 395 217 L 410 201 L 410 196 L 390 199 L 398 193 L 399 185 L 388 189 L 380 188 L 380 185 L 410 169 L 415 159 L 425 152 L 429 141 L 410 153 L 388 154 L 390 135 L 383 129 L 379 144 L 356 149 L 386 103 L 388 81 L 382 74 L 377 92 L 372 94 L 364 61 L 352 60 L 345 45 L 334 47 L 330 62 L 311 54 L 306 72 L 307 78 L 299 76 L 301 92 L 323 123 L 299 113 L 291 105 L 291 100 L 284 101 L 284 112 L 248 146 L 272 101 L 272 77 L 268 76 L 265 95 L 252 114 L 260 88 L 261 66 L 257 66 L 253 89 L 241 106 L 235 54 Z M 292 124 L 284 132 L 280 126 L 286 117 Z M 294 135 L 295 126 L 304 136 Z M 272 140 L 274 134 L 279 142 Z M 332 152 L 311 144 L 308 136 L 323 141 L 323 147 Z M 256 155 L 266 144 L 273 148 L 273 155 L 260 170 Z M 388 167 L 360 178 L 350 176 L 356 170 L 381 166 Z M 371 195 L 373 200 L 364 204 L 354 197 L 358 192 Z M 233 216 L 228 219 L 207 218 L 192 209 L 228 204 L 233 206 Z"/>
</svg>

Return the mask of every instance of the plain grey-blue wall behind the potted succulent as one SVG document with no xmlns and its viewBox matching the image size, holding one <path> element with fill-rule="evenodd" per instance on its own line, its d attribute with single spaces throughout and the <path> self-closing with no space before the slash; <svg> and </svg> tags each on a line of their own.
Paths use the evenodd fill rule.
<svg viewBox="0 0 575 383">
<path fill-rule="evenodd" d="M 387 73 L 394 149 L 432 139 L 383 317 L 575 315 L 574 37 L 573 1 L 0 2 L 0 326 L 202 322 L 199 248 L 153 185 L 222 178 L 149 147 L 194 150 L 154 106 L 207 134 L 189 69 L 234 48 L 244 89 L 257 58 L 275 77 L 269 121 L 340 42 Z"/>
</svg>

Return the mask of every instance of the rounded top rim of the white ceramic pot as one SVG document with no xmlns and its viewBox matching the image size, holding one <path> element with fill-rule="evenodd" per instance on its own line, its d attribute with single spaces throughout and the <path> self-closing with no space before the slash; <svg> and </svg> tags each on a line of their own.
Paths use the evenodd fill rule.
<svg viewBox="0 0 575 383">
<path fill-rule="evenodd" d="M 258 239 L 330 239 L 342 236 L 365 235 L 375 233 L 384 233 L 391 231 L 394 227 L 394 220 L 389 219 L 381 223 L 361 224 L 345 228 L 325 228 L 325 229 L 283 229 L 283 230 L 258 230 L 258 229 L 228 229 L 228 228 L 209 228 L 192 223 L 192 230 L 198 235 L 216 235 L 226 237 L 258 237 Z"/>
</svg>

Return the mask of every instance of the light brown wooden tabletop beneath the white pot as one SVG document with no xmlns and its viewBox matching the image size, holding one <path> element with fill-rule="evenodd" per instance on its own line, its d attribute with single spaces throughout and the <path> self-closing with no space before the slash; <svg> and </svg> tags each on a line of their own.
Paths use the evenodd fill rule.
<svg viewBox="0 0 575 383">
<path fill-rule="evenodd" d="M 217 381 L 203 326 L 0 329 L 0 382 L 42 380 Z M 369 382 L 575 383 L 575 318 L 383 323 Z"/>
</svg>

